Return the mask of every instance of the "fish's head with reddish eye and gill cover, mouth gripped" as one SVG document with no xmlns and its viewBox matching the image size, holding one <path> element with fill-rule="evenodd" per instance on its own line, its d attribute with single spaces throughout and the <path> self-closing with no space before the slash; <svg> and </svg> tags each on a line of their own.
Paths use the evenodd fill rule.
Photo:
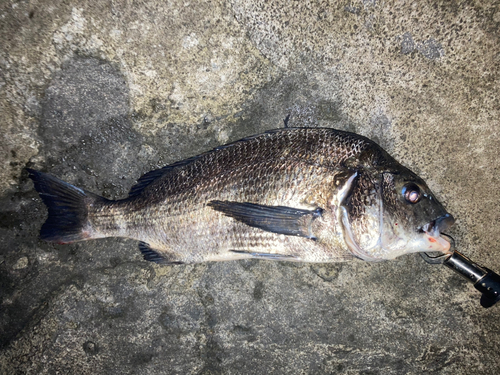
<svg viewBox="0 0 500 375">
<path fill-rule="evenodd" d="M 341 207 L 354 255 L 381 261 L 415 252 L 451 253 L 441 233 L 455 220 L 420 177 L 399 164 L 357 174 Z"/>
</svg>

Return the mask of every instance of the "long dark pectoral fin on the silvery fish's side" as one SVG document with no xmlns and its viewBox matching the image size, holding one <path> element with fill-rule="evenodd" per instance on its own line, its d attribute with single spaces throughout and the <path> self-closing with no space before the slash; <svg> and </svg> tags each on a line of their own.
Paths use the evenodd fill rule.
<svg viewBox="0 0 500 375">
<path fill-rule="evenodd" d="M 321 216 L 323 209 L 301 210 L 285 206 L 264 206 L 255 203 L 211 201 L 214 210 L 224 213 L 246 225 L 267 232 L 300 236 L 315 240 L 311 223 Z"/>
</svg>

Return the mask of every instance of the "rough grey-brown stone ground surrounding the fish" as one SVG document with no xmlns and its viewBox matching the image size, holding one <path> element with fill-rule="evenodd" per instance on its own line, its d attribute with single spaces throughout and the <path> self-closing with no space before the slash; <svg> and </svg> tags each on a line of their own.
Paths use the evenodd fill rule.
<svg viewBox="0 0 500 375">
<path fill-rule="evenodd" d="M 22 172 L 123 197 L 290 115 L 378 141 L 500 271 L 498 2 L 0 7 L 0 373 L 498 373 L 500 308 L 418 256 L 158 267 L 133 241 L 48 245 Z"/>
</svg>

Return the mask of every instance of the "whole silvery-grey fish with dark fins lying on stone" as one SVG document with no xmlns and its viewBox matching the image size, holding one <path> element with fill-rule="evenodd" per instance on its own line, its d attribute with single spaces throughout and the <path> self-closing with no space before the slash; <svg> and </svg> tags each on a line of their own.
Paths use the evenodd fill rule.
<svg viewBox="0 0 500 375">
<path fill-rule="evenodd" d="M 377 262 L 451 254 L 454 218 L 377 143 L 330 128 L 281 128 L 139 178 L 109 200 L 27 169 L 48 209 L 40 239 L 139 241 L 163 265 L 238 259 Z"/>
</svg>

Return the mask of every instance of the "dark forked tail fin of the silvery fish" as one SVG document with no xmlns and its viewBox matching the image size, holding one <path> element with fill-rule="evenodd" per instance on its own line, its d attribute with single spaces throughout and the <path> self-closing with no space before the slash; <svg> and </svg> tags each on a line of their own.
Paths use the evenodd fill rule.
<svg viewBox="0 0 500 375">
<path fill-rule="evenodd" d="M 58 244 L 96 238 L 88 219 L 88 207 L 105 200 L 54 176 L 26 168 L 35 189 L 47 206 L 49 216 L 40 230 L 40 239 Z"/>
</svg>

